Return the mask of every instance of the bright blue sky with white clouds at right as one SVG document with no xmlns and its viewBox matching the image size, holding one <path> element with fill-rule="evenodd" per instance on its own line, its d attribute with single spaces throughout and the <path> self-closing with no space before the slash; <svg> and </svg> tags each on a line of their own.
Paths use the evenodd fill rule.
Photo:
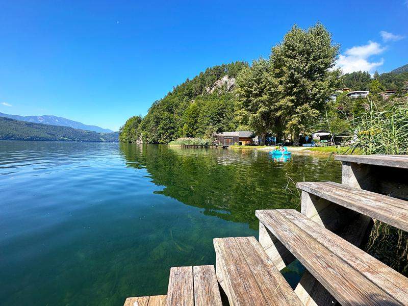
<svg viewBox="0 0 408 306">
<path fill-rule="evenodd" d="M 0 0 L 0 112 L 118 130 L 206 67 L 267 57 L 294 23 L 322 22 L 344 71 L 408 63 L 408 0 Z"/>
</svg>

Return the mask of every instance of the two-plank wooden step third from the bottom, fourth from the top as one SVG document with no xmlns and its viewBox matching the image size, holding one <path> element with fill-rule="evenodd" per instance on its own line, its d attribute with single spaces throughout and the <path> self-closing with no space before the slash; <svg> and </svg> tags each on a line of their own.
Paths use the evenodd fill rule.
<svg viewBox="0 0 408 306">
<path fill-rule="evenodd" d="M 214 248 L 231 305 L 302 305 L 254 237 L 216 238 Z"/>
</svg>

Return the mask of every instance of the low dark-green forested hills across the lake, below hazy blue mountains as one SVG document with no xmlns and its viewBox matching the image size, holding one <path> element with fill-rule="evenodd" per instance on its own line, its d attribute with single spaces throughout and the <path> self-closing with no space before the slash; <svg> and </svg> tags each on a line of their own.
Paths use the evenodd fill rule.
<svg viewBox="0 0 408 306">
<path fill-rule="evenodd" d="M 96 133 L 0 117 L 0 140 L 117 142 L 118 133 Z"/>
</svg>

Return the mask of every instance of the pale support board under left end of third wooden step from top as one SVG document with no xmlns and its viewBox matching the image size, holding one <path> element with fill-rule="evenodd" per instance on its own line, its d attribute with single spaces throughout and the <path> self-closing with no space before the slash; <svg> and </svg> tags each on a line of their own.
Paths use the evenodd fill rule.
<svg viewBox="0 0 408 306">
<path fill-rule="evenodd" d="M 273 236 L 262 222 L 259 223 L 259 243 L 279 271 L 295 260 L 293 254 Z"/>
</svg>

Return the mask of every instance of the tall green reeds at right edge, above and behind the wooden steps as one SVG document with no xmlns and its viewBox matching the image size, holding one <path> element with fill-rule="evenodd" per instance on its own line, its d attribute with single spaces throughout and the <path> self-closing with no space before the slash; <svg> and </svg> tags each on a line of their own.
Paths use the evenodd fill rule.
<svg viewBox="0 0 408 306">
<path fill-rule="evenodd" d="M 350 129 L 355 137 L 351 151 L 359 150 L 364 155 L 407 155 L 408 98 L 382 106 L 370 101 L 367 111 L 350 122 Z M 375 221 L 366 251 L 408 276 L 408 233 Z"/>
</svg>

